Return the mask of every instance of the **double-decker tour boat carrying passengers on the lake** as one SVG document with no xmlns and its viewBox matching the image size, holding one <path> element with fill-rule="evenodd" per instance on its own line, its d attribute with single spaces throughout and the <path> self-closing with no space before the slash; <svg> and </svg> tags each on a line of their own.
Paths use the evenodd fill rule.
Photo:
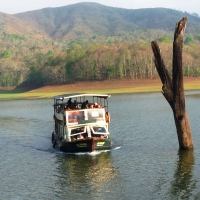
<svg viewBox="0 0 200 200">
<path fill-rule="evenodd" d="M 54 148 L 63 152 L 111 149 L 110 113 L 106 94 L 54 96 Z"/>
</svg>

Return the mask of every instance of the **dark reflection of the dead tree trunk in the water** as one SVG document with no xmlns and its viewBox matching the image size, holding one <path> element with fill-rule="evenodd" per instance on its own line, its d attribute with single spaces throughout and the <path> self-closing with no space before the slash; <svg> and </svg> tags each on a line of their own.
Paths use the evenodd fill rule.
<svg viewBox="0 0 200 200">
<path fill-rule="evenodd" d="M 177 169 L 174 173 L 174 179 L 171 183 L 170 194 L 175 199 L 188 199 L 192 191 L 196 187 L 196 183 L 192 180 L 194 154 L 193 149 L 178 151 Z"/>
</svg>

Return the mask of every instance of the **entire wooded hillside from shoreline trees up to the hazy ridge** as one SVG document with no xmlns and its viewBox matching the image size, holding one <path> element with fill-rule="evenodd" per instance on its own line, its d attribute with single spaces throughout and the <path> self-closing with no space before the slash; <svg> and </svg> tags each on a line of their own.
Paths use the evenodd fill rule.
<svg viewBox="0 0 200 200">
<path fill-rule="evenodd" d="M 170 69 L 175 23 L 183 17 L 188 17 L 184 75 L 199 76 L 197 14 L 97 3 L 15 15 L 0 12 L 0 87 L 155 78 L 150 42 L 161 42 Z"/>
</svg>

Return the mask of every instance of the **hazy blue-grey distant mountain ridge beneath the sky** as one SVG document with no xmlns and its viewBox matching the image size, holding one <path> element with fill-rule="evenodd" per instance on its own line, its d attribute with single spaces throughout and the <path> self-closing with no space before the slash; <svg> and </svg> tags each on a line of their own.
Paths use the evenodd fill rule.
<svg viewBox="0 0 200 200">
<path fill-rule="evenodd" d="M 166 9 L 123 9 L 98 3 L 77 3 L 44 8 L 13 15 L 35 31 L 57 41 L 94 36 L 123 36 L 135 30 L 173 31 L 175 23 L 188 17 L 190 34 L 200 32 L 200 18 L 189 13 Z"/>
</svg>

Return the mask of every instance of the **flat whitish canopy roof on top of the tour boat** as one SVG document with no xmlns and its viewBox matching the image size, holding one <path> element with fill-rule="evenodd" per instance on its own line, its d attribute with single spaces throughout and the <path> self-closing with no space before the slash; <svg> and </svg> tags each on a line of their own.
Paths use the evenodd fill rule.
<svg viewBox="0 0 200 200">
<path fill-rule="evenodd" d="M 54 96 L 53 98 L 55 100 L 64 100 L 69 98 L 79 98 L 79 97 L 97 97 L 97 98 L 103 98 L 107 99 L 111 95 L 108 94 L 61 94 L 58 96 Z"/>
</svg>

